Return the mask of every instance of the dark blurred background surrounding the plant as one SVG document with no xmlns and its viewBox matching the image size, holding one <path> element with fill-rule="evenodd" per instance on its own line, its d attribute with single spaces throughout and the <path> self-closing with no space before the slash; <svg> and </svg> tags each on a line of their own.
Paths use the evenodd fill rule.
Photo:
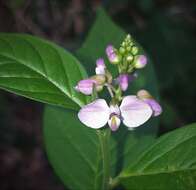
<svg viewBox="0 0 196 190">
<path fill-rule="evenodd" d="M 193 0 L 0 0 L 0 32 L 30 33 L 80 47 L 97 7 L 151 56 L 163 114 L 159 134 L 196 121 L 196 2 Z M 42 137 L 43 105 L 0 90 L 0 189 L 62 190 Z"/>
</svg>

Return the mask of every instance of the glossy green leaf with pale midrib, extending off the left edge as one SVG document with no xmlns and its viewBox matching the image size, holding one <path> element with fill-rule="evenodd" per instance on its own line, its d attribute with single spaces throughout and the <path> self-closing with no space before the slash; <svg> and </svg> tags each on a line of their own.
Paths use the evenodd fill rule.
<svg viewBox="0 0 196 190">
<path fill-rule="evenodd" d="M 74 90 L 86 73 L 78 60 L 46 40 L 0 34 L 0 88 L 44 103 L 78 109 L 85 96 Z"/>
</svg>

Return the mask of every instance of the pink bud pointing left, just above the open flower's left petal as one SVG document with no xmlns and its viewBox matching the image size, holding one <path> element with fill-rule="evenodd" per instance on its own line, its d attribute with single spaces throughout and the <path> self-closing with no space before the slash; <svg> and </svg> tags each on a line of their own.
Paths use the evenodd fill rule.
<svg viewBox="0 0 196 190">
<path fill-rule="evenodd" d="M 93 85 L 96 85 L 97 81 L 93 79 L 84 79 L 78 82 L 75 89 L 85 95 L 91 95 L 93 93 Z"/>
</svg>

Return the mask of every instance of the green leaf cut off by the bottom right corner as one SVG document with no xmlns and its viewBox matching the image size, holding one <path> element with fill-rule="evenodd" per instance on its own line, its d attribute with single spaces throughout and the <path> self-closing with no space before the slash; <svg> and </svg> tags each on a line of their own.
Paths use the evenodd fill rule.
<svg viewBox="0 0 196 190">
<path fill-rule="evenodd" d="M 160 137 L 131 165 L 119 177 L 127 189 L 195 189 L 196 123 Z"/>
</svg>

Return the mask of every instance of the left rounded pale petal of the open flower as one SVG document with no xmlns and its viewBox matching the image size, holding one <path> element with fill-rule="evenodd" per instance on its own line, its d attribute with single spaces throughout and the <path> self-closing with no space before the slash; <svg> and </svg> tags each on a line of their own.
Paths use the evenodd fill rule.
<svg viewBox="0 0 196 190">
<path fill-rule="evenodd" d="M 86 126 L 98 129 L 109 120 L 110 109 L 104 99 L 97 99 L 85 105 L 78 113 L 78 118 Z"/>
</svg>

